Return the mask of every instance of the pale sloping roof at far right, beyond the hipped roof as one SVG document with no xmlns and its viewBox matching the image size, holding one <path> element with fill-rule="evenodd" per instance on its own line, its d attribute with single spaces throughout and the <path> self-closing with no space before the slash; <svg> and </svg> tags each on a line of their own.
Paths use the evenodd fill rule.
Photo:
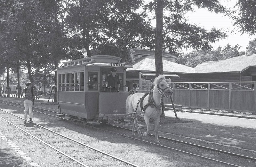
<svg viewBox="0 0 256 167">
<path fill-rule="evenodd" d="M 218 62 L 205 62 L 195 67 L 195 73 L 243 72 L 256 66 L 256 54 L 236 56 Z"/>
</svg>

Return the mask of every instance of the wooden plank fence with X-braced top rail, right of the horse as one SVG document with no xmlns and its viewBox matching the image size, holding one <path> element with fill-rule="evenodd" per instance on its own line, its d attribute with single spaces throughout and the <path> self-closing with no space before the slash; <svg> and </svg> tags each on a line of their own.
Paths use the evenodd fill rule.
<svg viewBox="0 0 256 167">
<path fill-rule="evenodd" d="M 169 83 L 174 104 L 256 113 L 256 82 Z M 171 104 L 170 98 L 164 103 Z"/>
</svg>

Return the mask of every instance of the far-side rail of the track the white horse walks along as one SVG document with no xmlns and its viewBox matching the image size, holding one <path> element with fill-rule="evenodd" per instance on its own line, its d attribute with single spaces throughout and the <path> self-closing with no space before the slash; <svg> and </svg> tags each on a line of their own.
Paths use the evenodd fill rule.
<svg viewBox="0 0 256 167">
<path fill-rule="evenodd" d="M 117 127 L 117 128 L 121 128 L 121 129 L 132 131 L 131 129 L 124 128 L 124 127 L 119 127 L 119 126 L 116 126 L 116 125 L 110 125 L 110 126 L 114 126 L 114 127 Z M 148 136 L 155 137 L 155 135 L 150 134 L 150 133 L 148 133 Z M 225 154 L 228 154 L 228 155 L 239 156 L 239 157 L 242 157 L 242 158 L 247 158 L 247 159 L 251 159 L 251 160 L 256 161 L 256 158 L 250 157 L 250 156 L 246 156 L 246 155 L 240 155 L 240 154 L 236 154 L 236 153 L 231 153 L 231 152 L 228 152 L 228 151 L 223 151 L 223 150 L 219 150 L 219 149 L 215 149 L 215 148 L 211 148 L 211 147 L 205 147 L 205 146 L 201 146 L 201 145 L 197 145 L 197 144 L 193 144 L 193 143 L 188 143 L 188 142 L 185 142 L 185 141 L 180 141 L 180 140 L 176 140 L 176 139 L 166 138 L 166 137 L 163 137 L 163 136 L 158 136 L 158 138 L 166 139 L 166 140 L 171 140 L 171 141 L 175 141 L 175 142 L 179 142 L 179 143 L 183 143 L 183 144 L 187 144 L 187 145 L 191 145 L 191 146 L 201 147 L 201 148 L 209 149 L 209 150 L 212 150 L 212 151 L 222 152 L 222 153 L 225 153 Z"/>
</svg>

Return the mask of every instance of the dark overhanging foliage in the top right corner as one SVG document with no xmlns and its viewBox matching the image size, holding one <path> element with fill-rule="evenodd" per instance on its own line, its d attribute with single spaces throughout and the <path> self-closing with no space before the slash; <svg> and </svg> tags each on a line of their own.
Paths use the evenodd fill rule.
<svg viewBox="0 0 256 167">
<path fill-rule="evenodd" d="M 256 34 L 256 1 L 255 0 L 238 0 L 235 9 L 229 13 L 242 34 Z"/>
</svg>

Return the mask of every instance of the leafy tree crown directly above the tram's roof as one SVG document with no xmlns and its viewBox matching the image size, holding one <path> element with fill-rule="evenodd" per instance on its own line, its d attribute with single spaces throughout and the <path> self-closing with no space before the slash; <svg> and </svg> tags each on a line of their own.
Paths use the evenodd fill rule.
<svg viewBox="0 0 256 167">
<path fill-rule="evenodd" d="M 136 12 L 141 4 L 140 0 L 89 0 L 60 7 L 68 13 L 69 34 L 82 36 L 87 57 L 91 57 L 91 49 L 105 48 L 102 45 L 109 42 L 123 50 L 134 46 L 135 37 L 144 29 L 144 14 Z"/>
</svg>

